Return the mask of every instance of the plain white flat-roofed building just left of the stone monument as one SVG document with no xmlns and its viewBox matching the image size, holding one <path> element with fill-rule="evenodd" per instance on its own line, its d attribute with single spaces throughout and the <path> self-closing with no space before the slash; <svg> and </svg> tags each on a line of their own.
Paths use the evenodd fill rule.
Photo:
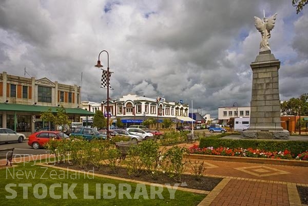
<svg viewBox="0 0 308 206">
<path fill-rule="evenodd" d="M 250 110 L 250 107 L 220 107 L 218 119 L 226 125 L 231 117 L 250 117 Z"/>
</svg>

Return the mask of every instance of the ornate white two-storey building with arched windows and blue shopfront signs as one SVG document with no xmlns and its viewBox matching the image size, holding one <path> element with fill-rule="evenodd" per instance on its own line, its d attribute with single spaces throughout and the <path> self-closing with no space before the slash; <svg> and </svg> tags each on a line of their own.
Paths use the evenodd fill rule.
<svg viewBox="0 0 308 206">
<path fill-rule="evenodd" d="M 148 118 L 157 120 L 157 127 L 161 128 L 163 119 L 169 118 L 182 125 L 194 121 L 188 117 L 189 106 L 182 102 L 168 102 L 165 98 L 149 98 L 128 94 L 119 99 L 109 99 L 109 112 L 107 112 L 107 101 L 103 100 L 101 105 L 95 102 L 83 101 L 81 108 L 88 111 L 101 110 L 105 116 L 109 113 L 112 118 L 120 118 L 129 126 L 140 124 Z"/>
</svg>

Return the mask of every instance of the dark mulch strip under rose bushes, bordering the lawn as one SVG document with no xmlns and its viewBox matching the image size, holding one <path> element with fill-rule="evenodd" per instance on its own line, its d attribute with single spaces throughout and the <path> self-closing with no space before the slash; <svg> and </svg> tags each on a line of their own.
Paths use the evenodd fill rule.
<svg viewBox="0 0 308 206">
<path fill-rule="evenodd" d="M 78 166 L 70 165 L 69 163 L 56 163 L 55 166 L 57 167 L 63 167 L 63 168 L 69 168 L 72 170 L 82 170 L 82 171 L 90 171 L 92 172 L 94 168 L 95 174 L 103 174 L 103 175 L 109 175 L 114 177 L 121 177 L 125 179 L 133 179 L 133 180 L 139 180 L 139 181 L 145 181 L 150 183 L 158 183 L 158 184 L 165 184 L 169 183 L 171 186 L 174 186 L 175 183 L 180 183 L 178 187 L 185 187 L 190 189 L 197 189 L 197 190 L 205 190 L 205 191 L 211 191 L 213 190 L 217 184 L 222 180 L 222 178 L 215 178 L 215 177 L 206 177 L 203 176 L 201 179 L 197 180 L 194 175 L 188 175 L 183 174 L 181 176 L 181 181 L 177 181 L 173 178 L 170 178 L 167 174 L 159 173 L 156 179 L 153 179 L 149 174 L 146 172 L 143 172 L 140 176 L 134 176 L 129 175 L 126 168 L 118 167 L 117 172 L 114 172 L 114 170 L 111 170 L 109 166 L 103 165 L 101 170 L 96 169 L 92 165 L 86 166 L 84 169 L 81 169 Z M 183 182 L 186 182 L 187 186 L 181 186 Z"/>
</svg>

